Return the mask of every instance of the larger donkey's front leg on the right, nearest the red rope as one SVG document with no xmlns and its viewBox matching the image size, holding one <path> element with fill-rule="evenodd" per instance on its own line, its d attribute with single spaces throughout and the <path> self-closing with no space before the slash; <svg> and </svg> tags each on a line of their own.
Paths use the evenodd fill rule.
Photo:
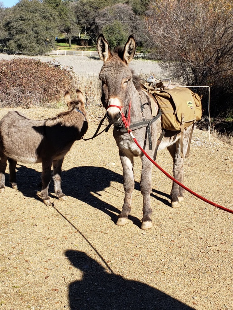
<svg viewBox="0 0 233 310">
<path fill-rule="evenodd" d="M 141 181 L 140 188 L 143 197 L 143 218 L 141 229 L 150 229 L 152 226 L 151 214 L 152 209 L 150 206 L 150 193 L 151 193 L 151 171 L 152 171 L 152 163 L 145 157 L 141 157 L 142 161 L 142 173 L 141 173 Z"/>
</svg>

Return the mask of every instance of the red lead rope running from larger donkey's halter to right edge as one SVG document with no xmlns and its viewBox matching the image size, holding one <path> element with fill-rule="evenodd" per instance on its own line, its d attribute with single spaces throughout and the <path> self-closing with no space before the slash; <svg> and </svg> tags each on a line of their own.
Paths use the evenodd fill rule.
<svg viewBox="0 0 233 310">
<path fill-rule="evenodd" d="M 119 108 L 119 107 L 117 107 Z M 150 158 L 150 156 L 143 150 L 143 148 L 139 145 L 138 141 L 136 140 L 135 136 L 132 133 L 132 130 L 129 129 L 130 127 L 130 108 L 131 108 L 131 101 L 129 103 L 129 115 L 126 117 L 125 115 L 121 112 L 121 118 L 122 118 L 122 122 L 124 123 L 126 129 L 128 129 L 128 133 L 131 135 L 131 137 L 133 138 L 134 142 L 136 143 L 136 145 L 140 148 L 140 150 L 142 151 L 142 153 L 160 170 L 162 171 L 169 179 L 171 179 L 173 182 L 175 182 L 176 184 L 178 184 L 179 186 L 183 187 L 187 192 L 190 192 L 191 194 L 193 194 L 194 196 L 196 196 L 197 198 L 209 203 L 212 206 L 215 206 L 216 208 L 222 209 L 224 211 L 227 211 L 229 213 L 233 214 L 233 210 L 227 209 L 223 206 L 218 205 L 217 203 L 214 203 L 200 195 L 198 195 L 197 193 L 193 192 L 191 189 L 189 189 L 188 187 L 184 186 L 182 183 L 178 182 L 176 179 L 174 179 L 170 174 L 168 174 L 164 169 L 162 169 L 158 164 L 156 164 L 156 162 Z"/>
</svg>

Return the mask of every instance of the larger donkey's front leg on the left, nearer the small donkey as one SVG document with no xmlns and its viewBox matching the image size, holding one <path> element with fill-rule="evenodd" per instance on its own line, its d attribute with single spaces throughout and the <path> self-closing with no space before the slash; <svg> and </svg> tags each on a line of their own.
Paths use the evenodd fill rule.
<svg viewBox="0 0 233 310">
<path fill-rule="evenodd" d="M 119 219 L 117 220 L 117 225 L 125 225 L 128 220 L 128 215 L 131 211 L 131 197 L 134 190 L 134 173 L 133 173 L 133 155 L 125 155 L 123 152 L 119 151 L 121 158 L 121 164 L 123 167 L 124 176 L 124 190 L 125 199 L 122 207 L 122 212 L 119 214 Z"/>
</svg>

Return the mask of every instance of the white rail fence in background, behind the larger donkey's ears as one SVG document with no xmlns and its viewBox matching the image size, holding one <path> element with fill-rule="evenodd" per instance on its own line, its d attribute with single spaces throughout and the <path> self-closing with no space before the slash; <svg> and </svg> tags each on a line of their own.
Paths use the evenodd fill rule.
<svg viewBox="0 0 233 310">
<path fill-rule="evenodd" d="M 98 52 L 93 51 L 62 51 L 62 50 L 51 50 L 49 53 L 44 53 L 44 55 L 65 55 L 65 56 L 88 56 L 88 57 L 96 57 L 98 58 Z M 143 53 L 136 53 L 134 58 L 143 58 L 143 59 L 155 59 L 154 55 L 152 54 L 143 54 Z"/>
</svg>

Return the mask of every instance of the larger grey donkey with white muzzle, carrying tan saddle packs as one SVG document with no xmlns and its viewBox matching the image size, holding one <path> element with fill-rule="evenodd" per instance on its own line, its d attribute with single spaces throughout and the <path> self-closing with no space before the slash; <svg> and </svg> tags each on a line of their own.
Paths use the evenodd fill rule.
<svg viewBox="0 0 233 310">
<path fill-rule="evenodd" d="M 133 141 L 132 137 L 124 130 L 121 112 L 129 115 L 129 104 L 131 104 L 131 123 L 137 124 L 142 120 L 151 120 L 150 99 L 145 91 L 140 88 L 139 78 L 129 68 L 129 63 L 133 59 L 136 51 L 134 37 L 129 36 L 124 49 L 115 49 L 111 52 L 108 42 L 103 35 L 99 35 L 97 40 L 97 50 L 100 59 L 104 62 L 99 73 L 102 81 L 101 101 L 106 111 L 106 116 L 110 123 L 114 125 L 113 136 L 119 148 L 119 155 L 123 167 L 125 198 L 123 210 L 119 214 L 117 225 L 125 225 L 131 211 L 131 197 L 134 189 L 133 160 L 134 156 L 140 156 L 142 162 L 142 172 L 140 189 L 143 196 L 143 217 L 141 229 L 152 227 L 150 206 L 151 192 L 151 170 L 152 163 L 141 152 Z M 144 108 L 143 108 L 144 107 Z M 158 105 L 155 103 L 158 112 Z M 143 112 L 142 112 L 143 111 Z M 185 157 L 188 149 L 188 141 L 192 126 L 184 132 L 183 155 Z M 153 158 L 157 139 L 162 132 L 161 119 L 158 118 L 150 125 L 152 150 L 149 143 L 146 143 L 145 151 Z M 140 127 L 133 131 L 140 146 L 143 146 L 146 135 L 146 127 Z M 167 148 L 173 158 L 173 176 L 183 183 L 183 158 L 180 155 L 180 133 L 167 131 L 163 140 L 159 144 L 159 150 Z M 179 202 L 183 200 L 183 188 L 173 183 L 171 190 L 171 206 L 177 208 Z"/>
</svg>

